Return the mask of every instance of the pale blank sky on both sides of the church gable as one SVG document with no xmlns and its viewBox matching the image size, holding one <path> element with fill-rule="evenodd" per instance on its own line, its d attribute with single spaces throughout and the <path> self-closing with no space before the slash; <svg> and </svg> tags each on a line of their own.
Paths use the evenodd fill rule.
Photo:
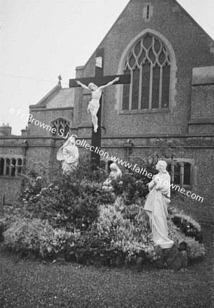
<svg viewBox="0 0 214 308">
<path fill-rule="evenodd" d="M 0 0 L 0 126 L 21 134 L 29 105 L 75 78 L 129 0 Z M 178 3 L 214 38 L 213 0 Z M 15 110 L 14 114 L 10 111 Z"/>
</svg>

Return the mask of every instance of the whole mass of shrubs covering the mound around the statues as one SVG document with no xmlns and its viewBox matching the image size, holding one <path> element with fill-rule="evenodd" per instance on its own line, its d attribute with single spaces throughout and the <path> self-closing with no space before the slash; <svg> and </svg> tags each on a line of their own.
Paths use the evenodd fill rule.
<svg viewBox="0 0 214 308">
<path fill-rule="evenodd" d="M 156 160 L 157 156 L 134 157 L 131 162 L 154 174 Z M 112 181 L 114 191 L 109 192 L 102 190 L 106 177 L 101 169 L 91 172 L 87 161 L 71 175 L 55 172 L 51 183 L 46 175 L 29 172 L 18 203 L 5 218 L 5 246 L 43 258 L 66 251 L 68 259 L 115 266 L 135 264 L 140 255 L 156 260 L 157 247 L 142 207 L 150 179 L 126 170 L 122 179 Z M 170 237 L 187 245 L 189 259 L 198 259 L 204 247 L 185 236 L 187 223 L 201 234 L 189 216 L 173 212 L 168 219 Z"/>
</svg>

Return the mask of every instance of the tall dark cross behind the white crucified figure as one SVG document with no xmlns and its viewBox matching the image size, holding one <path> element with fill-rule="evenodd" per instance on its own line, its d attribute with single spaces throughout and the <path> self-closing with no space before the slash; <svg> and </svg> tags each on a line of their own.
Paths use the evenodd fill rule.
<svg viewBox="0 0 214 308">
<path fill-rule="evenodd" d="M 96 86 L 103 86 L 108 84 L 110 81 L 115 79 L 116 77 L 120 77 L 118 81 L 114 84 L 130 84 L 131 82 L 131 75 L 111 75 L 111 76 L 103 76 L 103 66 L 104 66 L 104 49 L 96 49 L 96 67 L 95 67 L 95 76 L 94 77 L 85 77 L 85 78 L 78 78 L 78 79 L 70 79 L 69 80 L 69 87 L 75 88 L 79 85 L 77 81 L 81 81 L 82 84 L 88 86 L 90 82 L 96 84 Z M 85 106 L 86 108 L 86 106 Z M 101 111 L 102 111 L 102 96 L 100 99 L 100 107 L 96 114 L 98 117 L 98 129 L 97 132 L 94 132 L 94 128 L 92 127 L 92 146 L 94 149 L 101 148 Z M 96 151 L 98 152 L 98 151 Z M 101 156 L 95 151 L 91 152 L 91 167 L 92 170 L 96 170 L 97 167 L 100 166 Z"/>
</svg>

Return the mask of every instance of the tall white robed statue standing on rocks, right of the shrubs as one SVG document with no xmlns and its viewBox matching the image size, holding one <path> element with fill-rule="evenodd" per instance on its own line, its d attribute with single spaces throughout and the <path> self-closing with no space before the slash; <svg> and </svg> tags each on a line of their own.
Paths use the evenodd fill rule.
<svg viewBox="0 0 214 308">
<path fill-rule="evenodd" d="M 146 199 L 144 210 L 152 224 L 152 238 L 161 248 L 171 248 L 174 242 L 168 238 L 168 205 L 170 204 L 170 175 L 167 164 L 159 160 L 156 169 L 159 171 L 148 183 L 150 193 Z"/>
</svg>

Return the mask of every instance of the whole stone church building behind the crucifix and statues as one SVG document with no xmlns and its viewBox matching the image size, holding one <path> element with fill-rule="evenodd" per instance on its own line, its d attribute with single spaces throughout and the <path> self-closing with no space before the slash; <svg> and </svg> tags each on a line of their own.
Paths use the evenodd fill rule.
<svg viewBox="0 0 214 308">
<path fill-rule="evenodd" d="M 203 198 L 201 202 L 189 196 L 185 212 L 212 222 L 213 39 L 175 0 L 131 0 L 98 48 L 104 49 L 105 76 L 131 74 L 131 84 L 103 91 L 102 150 L 126 160 L 129 149 L 144 157 L 159 144 L 171 144 L 178 161 L 168 166 L 172 182 Z M 77 79 L 94 76 L 95 49 L 88 62 L 76 68 Z M 62 88 L 59 81 L 29 106 L 31 118 L 21 136 L 12 136 L 9 126 L 0 128 L 1 205 L 16 198 L 22 166 L 56 164 L 66 136 L 75 134 L 91 143 L 89 101 L 88 90 Z M 79 151 L 85 150 L 79 146 Z"/>
</svg>

